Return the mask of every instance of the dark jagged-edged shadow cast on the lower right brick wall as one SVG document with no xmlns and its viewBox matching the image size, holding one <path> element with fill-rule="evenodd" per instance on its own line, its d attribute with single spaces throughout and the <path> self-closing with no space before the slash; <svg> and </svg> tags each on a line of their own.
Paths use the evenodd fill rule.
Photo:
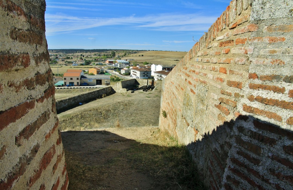
<svg viewBox="0 0 293 190">
<path fill-rule="evenodd" d="M 187 145 L 212 189 L 293 189 L 293 133 L 251 116 Z"/>
</svg>

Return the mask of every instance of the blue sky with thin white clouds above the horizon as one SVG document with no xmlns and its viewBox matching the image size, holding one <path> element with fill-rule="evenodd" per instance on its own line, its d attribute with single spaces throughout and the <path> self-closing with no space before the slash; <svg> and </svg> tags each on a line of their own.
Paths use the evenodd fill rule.
<svg viewBox="0 0 293 190">
<path fill-rule="evenodd" d="M 229 0 L 46 0 L 49 49 L 189 51 Z"/>
</svg>

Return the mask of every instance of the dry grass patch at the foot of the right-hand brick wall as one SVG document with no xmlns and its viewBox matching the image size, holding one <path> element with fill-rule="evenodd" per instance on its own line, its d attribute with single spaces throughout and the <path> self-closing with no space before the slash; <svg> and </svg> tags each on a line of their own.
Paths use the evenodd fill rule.
<svg viewBox="0 0 293 190">
<path fill-rule="evenodd" d="M 160 184 L 166 189 L 205 189 L 186 146 L 167 132 L 158 130 L 153 136 L 144 150 L 137 145 L 129 150 L 133 165 L 161 179 Z"/>
</svg>

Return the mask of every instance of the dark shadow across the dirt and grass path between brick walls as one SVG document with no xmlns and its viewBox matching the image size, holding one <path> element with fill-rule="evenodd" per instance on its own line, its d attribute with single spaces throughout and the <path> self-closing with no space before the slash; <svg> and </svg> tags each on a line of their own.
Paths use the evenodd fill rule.
<svg viewBox="0 0 293 190">
<path fill-rule="evenodd" d="M 147 144 L 109 131 L 62 132 L 68 189 L 202 189 L 185 146 L 164 134 L 168 145 L 159 146 L 160 136 Z"/>
</svg>

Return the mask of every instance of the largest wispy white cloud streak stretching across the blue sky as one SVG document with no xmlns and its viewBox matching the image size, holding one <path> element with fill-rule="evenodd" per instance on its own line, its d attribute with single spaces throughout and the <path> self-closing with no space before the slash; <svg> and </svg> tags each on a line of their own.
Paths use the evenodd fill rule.
<svg viewBox="0 0 293 190">
<path fill-rule="evenodd" d="M 46 34 L 74 31 L 101 26 L 126 25 L 129 29 L 158 31 L 206 31 L 217 17 L 197 14 L 160 14 L 144 17 L 131 15 L 121 18 L 90 18 L 63 14 L 45 14 Z"/>
</svg>

